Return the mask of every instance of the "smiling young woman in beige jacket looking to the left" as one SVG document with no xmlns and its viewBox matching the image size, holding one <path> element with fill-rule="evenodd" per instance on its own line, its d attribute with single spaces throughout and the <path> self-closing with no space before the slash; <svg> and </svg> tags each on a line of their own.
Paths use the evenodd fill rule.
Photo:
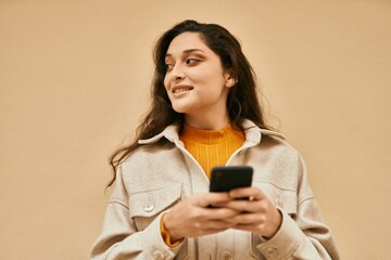
<svg viewBox="0 0 391 260">
<path fill-rule="evenodd" d="M 238 40 L 185 21 L 160 38 L 154 61 L 151 109 L 112 157 L 91 258 L 339 259 L 301 155 L 265 125 Z M 222 165 L 251 166 L 252 186 L 209 193 Z"/>
</svg>

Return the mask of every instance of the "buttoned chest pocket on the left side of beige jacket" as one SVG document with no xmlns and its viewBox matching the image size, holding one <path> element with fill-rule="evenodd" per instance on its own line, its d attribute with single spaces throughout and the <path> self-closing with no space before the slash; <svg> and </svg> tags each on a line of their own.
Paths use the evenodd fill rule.
<svg viewBox="0 0 391 260">
<path fill-rule="evenodd" d="M 180 200 L 181 183 L 130 194 L 129 213 L 138 231 L 144 230 L 162 211 Z"/>
</svg>

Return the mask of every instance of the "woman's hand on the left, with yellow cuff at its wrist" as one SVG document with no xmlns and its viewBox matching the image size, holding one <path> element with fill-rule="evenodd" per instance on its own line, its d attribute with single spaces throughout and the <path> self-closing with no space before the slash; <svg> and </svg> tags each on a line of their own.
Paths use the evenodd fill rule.
<svg viewBox="0 0 391 260">
<path fill-rule="evenodd" d="M 231 208 L 210 208 L 211 205 L 227 204 L 231 200 L 228 193 L 195 194 L 176 204 L 163 216 L 165 230 L 172 240 L 184 237 L 195 237 L 227 230 L 236 223 L 226 219 L 235 219 L 240 213 Z"/>
</svg>

